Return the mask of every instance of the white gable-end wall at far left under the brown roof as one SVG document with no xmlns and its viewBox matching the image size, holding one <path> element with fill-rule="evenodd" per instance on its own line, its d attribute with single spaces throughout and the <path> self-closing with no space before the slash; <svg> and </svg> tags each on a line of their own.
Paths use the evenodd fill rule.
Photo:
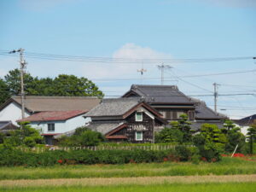
<svg viewBox="0 0 256 192">
<path fill-rule="evenodd" d="M 30 116 L 29 113 L 25 111 L 25 117 Z M 0 121 L 11 120 L 14 125 L 17 125 L 16 120 L 21 119 L 21 107 L 15 102 L 9 103 L 8 106 L 0 111 Z"/>
</svg>

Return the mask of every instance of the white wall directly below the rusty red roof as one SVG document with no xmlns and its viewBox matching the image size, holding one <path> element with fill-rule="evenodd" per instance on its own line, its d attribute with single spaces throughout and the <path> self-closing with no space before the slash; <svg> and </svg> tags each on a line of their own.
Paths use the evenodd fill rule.
<svg viewBox="0 0 256 192">
<path fill-rule="evenodd" d="M 83 114 L 84 115 L 84 114 Z M 89 118 L 84 119 L 83 115 L 79 115 L 72 119 L 67 119 L 66 121 L 44 121 L 44 122 L 31 122 L 33 128 L 41 131 L 41 134 L 47 133 L 64 133 L 67 131 L 72 131 L 79 126 L 85 125 L 90 121 Z M 48 124 L 55 124 L 55 131 L 48 131 Z"/>
</svg>

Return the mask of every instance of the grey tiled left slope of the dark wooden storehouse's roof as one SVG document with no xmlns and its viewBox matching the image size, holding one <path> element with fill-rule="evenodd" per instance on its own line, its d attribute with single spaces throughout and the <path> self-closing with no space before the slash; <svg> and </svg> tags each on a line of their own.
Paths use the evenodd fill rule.
<svg viewBox="0 0 256 192">
<path fill-rule="evenodd" d="M 136 107 L 141 98 L 118 98 L 104 99 L 102 103 L 91 109 L 84 116 L 86 117 L 102 117 L 102 116 L 121 116 L 128 112 L 131 108 Z"/>
</svg>

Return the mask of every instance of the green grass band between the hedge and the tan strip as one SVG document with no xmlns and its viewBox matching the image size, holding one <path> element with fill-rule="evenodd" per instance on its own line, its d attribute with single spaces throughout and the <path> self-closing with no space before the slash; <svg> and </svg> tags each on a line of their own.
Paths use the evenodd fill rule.
<svg viewBox="0 0 256 192">
<path fill-rule="evenodd" d="M 94 166 L 1 167 L 0 180 L 81 177 L 150 177 L 256 174 L 256 162 L 230 157 L 216 163 L 148 163 Z"/>
</svg>

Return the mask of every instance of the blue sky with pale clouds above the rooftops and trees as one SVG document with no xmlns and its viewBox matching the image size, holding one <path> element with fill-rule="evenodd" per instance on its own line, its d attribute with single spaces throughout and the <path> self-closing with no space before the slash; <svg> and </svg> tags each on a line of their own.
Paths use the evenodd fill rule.
<svg viewBox="0 0 256 192">
<path fill-rule="evenodd" d="M 254 0 L 10 0 L 0 2 L 0 23 L 2 50 L 156 60 L 256 56 Z M 0 55 L 0 76 L 18 67 L 17 61 Z M 106 95 L 121 95 L 131 84 L 142 83 L 137 69 L 143 64 L 138 63 L 26 61 L 33 76 L 84 76 Z M 160 79 L 149 80 L 160 78 L 159 64 L 144 63 L 143 84 L 160 84 Z M 211 94 L 214 82 L 242 85 L 221 85 L 219 94 L 256 92 L 255 72 L 183 79 L 187 83 L 175 78 L 252 70 L 253 60 L 165 64 L 173 67 L 165 73 L 165 84 L 177 84 L 187 95 Z M 106 81 L 124 78 L 134 80 Z M 212 108 L 212 96 L 200 99 Z M 218 99 L 219 109 L 227 109 L 219 112 L 232 118 L 256 113 L 255 96 Z"/>
</svg>

